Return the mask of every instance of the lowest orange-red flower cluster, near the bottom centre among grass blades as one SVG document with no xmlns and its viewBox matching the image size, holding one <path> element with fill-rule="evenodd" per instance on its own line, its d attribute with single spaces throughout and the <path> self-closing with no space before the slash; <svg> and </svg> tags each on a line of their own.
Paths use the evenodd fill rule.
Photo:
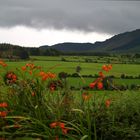
<svg viewBox="0 0 140 140">
<path fill-rule="evenodd" d="M 50 124 L 50 127 L 51 128 L 57 128 L 57 127 L 61 128 L 63 134 L 67 134 L 68 130 L 69 130 L 68 128 L 65 127 L 65 124 L 62 122 L 53 122 Z"/>
</svg>

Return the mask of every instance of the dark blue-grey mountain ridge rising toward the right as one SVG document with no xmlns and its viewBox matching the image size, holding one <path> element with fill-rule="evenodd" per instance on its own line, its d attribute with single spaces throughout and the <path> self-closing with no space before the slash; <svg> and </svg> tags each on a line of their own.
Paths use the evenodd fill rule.
<svg viewBox="0 0 140 140">
<path fill-rule="evenodd" d="M 62 52 L 140 52 L 140 29 L 115 35 L 103 42 L 59 43 L 41 46 L 42 49 L 56 49 Z"/>
</svg>

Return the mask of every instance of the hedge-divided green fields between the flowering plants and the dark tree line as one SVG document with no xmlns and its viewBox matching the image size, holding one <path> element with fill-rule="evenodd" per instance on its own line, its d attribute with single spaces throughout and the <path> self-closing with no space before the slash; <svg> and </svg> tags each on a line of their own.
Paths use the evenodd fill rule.
<svg viewBox="0 0 140 140">
<path fill-rule="evenodd" d="M 26 63 L 34 63 L 37 66 L 41 66 L 45 71 L 54 72 L 56 74 L 60 72 L 66 72 L 68 74 L 76 73 L 76 67 L 80 66 L 80 75 L 96 75 L 101 71 L 102 65 L 106 63 L 93 63 L 85 62 L 85 58 L 99 59 L 97 56 L 63 56 L 67 61 L 62 61 L 62 57 L 52 57 L 52 56 L 32 56 L 29 61 L 7 61 L 8 69 L 20 69 Z M 103 58 L 102 58 L 103 59 Z M 104 59 L 107 59 L 105 57 Z M 114 58 L 115 59 L 115 58 Z M 117 59 L 117 58 L 116 58 Z M 110 72 L 104 72 L 106 76 L 113 75 L 116 78 L 113 79 L 115 85 L 131 86 L 133 84 L 140 85 L 140 79 L 136 79 L 140 75 L 140 65 L 138 64 L 112 64 L 113 69 Z M 121 79 L 121 75 L 125 74 L 127 76 L 132 76 L 133 79 Z M 88 86 L 89 83 L 94 81 L 94 78 L 80 78 L 80 77 L 68 77 L 67 82 L 69 86 L 82 87 Z"/>
</svg>

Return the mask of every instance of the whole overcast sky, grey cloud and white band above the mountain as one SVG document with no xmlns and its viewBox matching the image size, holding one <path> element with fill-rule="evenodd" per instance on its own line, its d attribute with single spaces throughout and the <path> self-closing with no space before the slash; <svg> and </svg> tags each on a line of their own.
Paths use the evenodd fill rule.
<svg viewBox="0 0 140 140">
<path fill-rule="evenodd" d="M 94 43 L 139 28 L 139 0 L 0 0 L 0 43 Z"/>
</svg>

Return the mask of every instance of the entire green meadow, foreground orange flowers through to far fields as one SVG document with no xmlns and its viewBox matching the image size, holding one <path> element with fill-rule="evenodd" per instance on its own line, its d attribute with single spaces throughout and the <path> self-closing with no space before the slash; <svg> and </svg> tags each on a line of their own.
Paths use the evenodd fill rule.
<svg viewBox="0 0 140 140">
<path fill-rule="evenodd" d="M 140 65 L 111 65 L 106 60 L 85 62 L 83 56 L 1 60 L 0 139 L 139 140 L 139 88 L 106 90 L 105 84 L 112 82 L 104 79 L 113 75 L 113 86 L 140 85 Z M 69 76 L 59 77 L 60 72 Z M 78 76 L 72 76 L 75 73 Z"/>
</svg>

